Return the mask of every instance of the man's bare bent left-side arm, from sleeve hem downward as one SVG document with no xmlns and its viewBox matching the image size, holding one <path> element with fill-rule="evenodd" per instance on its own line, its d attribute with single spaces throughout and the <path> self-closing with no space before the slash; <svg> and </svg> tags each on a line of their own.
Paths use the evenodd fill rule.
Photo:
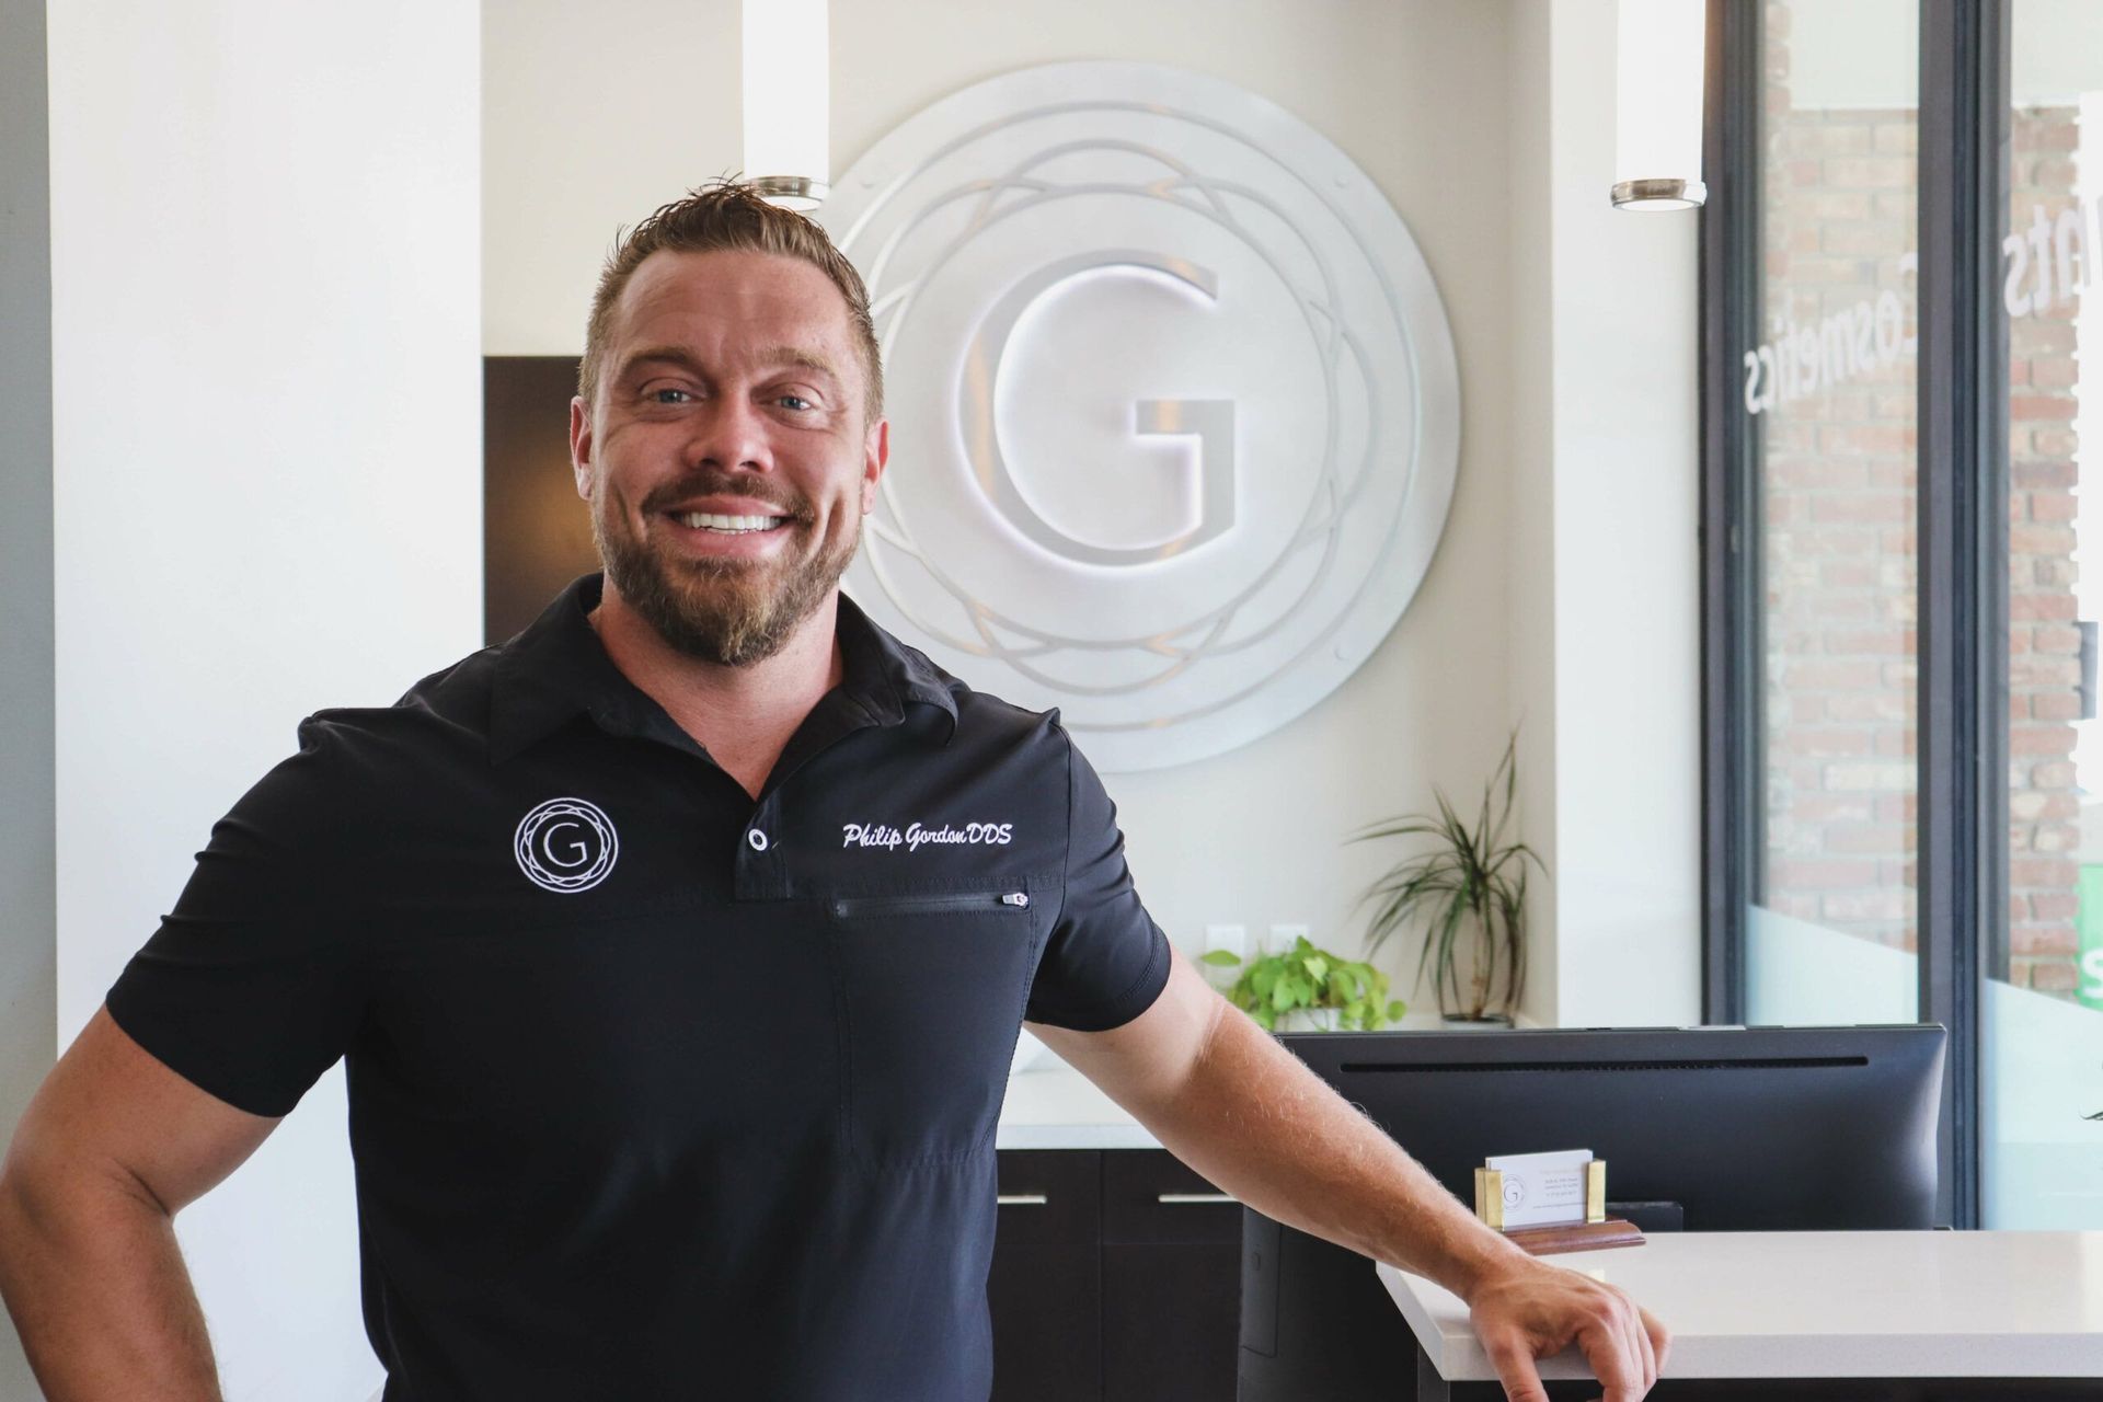
<svg viewBox="0 0 2103 1402">
<path fill-rule="evenodd" d="M 219 1402 L 175 1213 L 275 1127 L 97 1009 L 0 1164 L 0 1299 L 48 1402 Z"/>
</svg>

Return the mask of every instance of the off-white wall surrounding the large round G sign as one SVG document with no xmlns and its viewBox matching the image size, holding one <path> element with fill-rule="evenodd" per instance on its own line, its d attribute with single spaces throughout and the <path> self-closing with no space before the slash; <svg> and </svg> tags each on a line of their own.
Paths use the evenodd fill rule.
<svg viewBox="0 0 2103 1402">
<path fill-rule="evenodd" d="M 492 355 L 574 355 L 616 225 L 740 164 L 736 0 L 488 6 L 486 294 Z M 618 15 L 618 21 L 614 19 Z M 1451 0 L 835 0 L 833 168 L 936 99 L 1058 59 L 1148 59 L 1239 82 L 1335 141 L 1432 267 L 1462 372 L 1462 467 L 1409 614 L 1335 694 L 1203 763 L 1110 776 L 1155 919 L 1312 923 L 1359 948 L 1356 893 L 1398 849 L 1346 847 L 1430 784 L 1481 792 L 1504 746 L 1512 322 L 1499 174 L 1510 153 L 1506 6 Z M 637 48 L 627 36 L 650 34 Z M 900 460 L 911 444 L 896 444 Z M 583 507 L 578 507 L 583 509 Z M 1390 946 L 1398 982 L 1413 963 Z"/>
</svg>

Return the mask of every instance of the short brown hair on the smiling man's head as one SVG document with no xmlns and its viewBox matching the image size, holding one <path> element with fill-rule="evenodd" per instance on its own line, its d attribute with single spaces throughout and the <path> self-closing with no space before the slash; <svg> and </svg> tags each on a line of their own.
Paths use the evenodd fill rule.
<svg viewBox="0 0 2103 1402">
<path fill-rule="evenodd" d="M 629 286 L 629 275 L 660 248 L 673 252 L 715 252 L 721 248 L 774 252 L 803 259 L 831 277 L 839 294 L 848 298 L 848 326 L 854 330 L 854 349 L 862 362 L 862 376 L 869 380 L 869 393 L 862 395 L 866 422 L 883 418 L 883 362 L 877 351 L 877 324 L 869 315 L 869 288 L 862 286 L 862 275 L 854 271 L 848 254 L 833 246 L 816 221 L 768 204 L 751 185 L 728 177 L 690 189 L 683 200 L 673 200 L 629 229 L 627 235 L 616 238 L 614 252 L 606 259 L 606 271 L 599 273 L 599 290 L 591 296 L 585 359 L 576 368 L 576 393 L 583 395 L 585 404 L 595 404 L 599 362 L 606 355 L 606 332 L 614 319 L 614 303 Z"/>
</svg>

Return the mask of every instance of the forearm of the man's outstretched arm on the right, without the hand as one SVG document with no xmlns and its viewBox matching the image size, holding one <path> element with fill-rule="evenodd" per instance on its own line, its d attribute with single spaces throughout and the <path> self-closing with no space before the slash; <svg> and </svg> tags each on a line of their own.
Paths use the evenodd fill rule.
<svg viewBox="0 0 2103 1402">
<path fill-rule="evenodd" d="M 1241 1011 L 1222 1005 L 1173 1097 L 1140 1116 L 1234 1198 L 1470 1299 L 1485 1267 L 1525 1259 L 1377 1125 Z"/>
</svg>

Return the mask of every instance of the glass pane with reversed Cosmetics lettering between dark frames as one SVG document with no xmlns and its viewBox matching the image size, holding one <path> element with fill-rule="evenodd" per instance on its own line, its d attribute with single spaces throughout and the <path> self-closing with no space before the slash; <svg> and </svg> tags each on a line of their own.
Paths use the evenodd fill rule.
<svg viewBox="0 0 2103 1402">
<path fill-rule="evenodd" d="M 1764 11 L 1750 1022 L 1914 1022 L 1918 4 Z"/>
</svg>

